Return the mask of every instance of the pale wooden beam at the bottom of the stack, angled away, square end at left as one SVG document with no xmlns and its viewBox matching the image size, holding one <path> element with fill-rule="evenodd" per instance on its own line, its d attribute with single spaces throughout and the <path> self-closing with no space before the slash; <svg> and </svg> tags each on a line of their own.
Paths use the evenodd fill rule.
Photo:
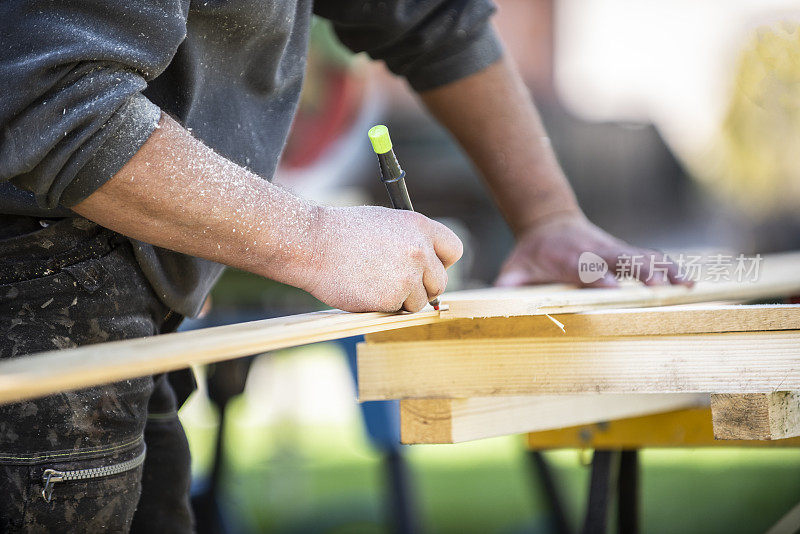
<svg viewBox="0 0 800 534">
<path fill-rule="evenodd" d="M 539 395 L 400 401 L 406 444 L 460 443 L 708 404 L 706 394 Z"/>
</svg>

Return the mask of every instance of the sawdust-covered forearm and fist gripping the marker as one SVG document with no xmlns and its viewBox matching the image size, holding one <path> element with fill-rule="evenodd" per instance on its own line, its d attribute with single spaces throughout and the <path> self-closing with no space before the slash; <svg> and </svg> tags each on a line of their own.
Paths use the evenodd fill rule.
<svg viewBox="0 0 800 534">
<path fill-rule="evenodd" d="M 309 291 L 348 311 L 417 311 L 444 291 L 458 237 L 403 210 L 311 205 L 162 116 L 128 163 L 73 209 L 153 245 Z"/>
</svg>

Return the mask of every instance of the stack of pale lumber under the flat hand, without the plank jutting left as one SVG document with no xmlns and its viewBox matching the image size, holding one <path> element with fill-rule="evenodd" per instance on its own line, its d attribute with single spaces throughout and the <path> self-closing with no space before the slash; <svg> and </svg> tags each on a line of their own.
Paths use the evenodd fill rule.
<svg viewBox="0 0 800 534">
<path fill-rule="evenodd" d="M 401 399 L 405 443 L 455 443 L 709 404 L 717 438 L 800 435 L 793 393 L 800 390 L 800 307 L 684 304 L 795 295 L 799 266 L 796 255 L 772 256 L 757 281 L 691 289 L 457 294 L 443 299 L 450 321 L 367 336 L 359 347 L 359 396 Z M 633 309 L 653 305 L 659 307 Z"/>
</svg>

